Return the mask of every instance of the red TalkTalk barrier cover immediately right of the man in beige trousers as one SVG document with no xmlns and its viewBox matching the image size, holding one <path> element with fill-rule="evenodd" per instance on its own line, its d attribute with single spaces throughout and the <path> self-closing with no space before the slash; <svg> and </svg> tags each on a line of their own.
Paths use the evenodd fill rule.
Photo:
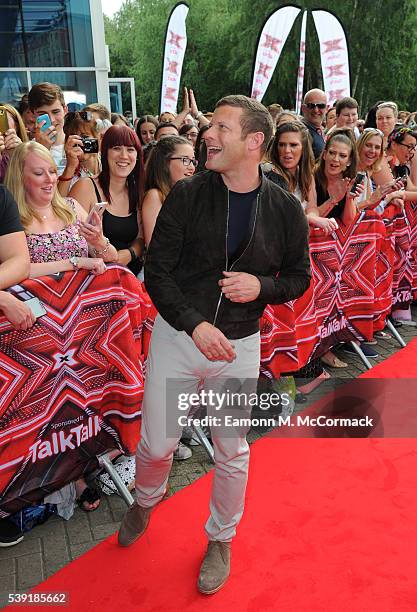
<svg viewBox="0 0 417 612">
<path fill-rule="evenodd" d="M 384 233 L 375 214 L 362 213 L 331 236 L 312 230 L 312 281 L 287 304 L 269 305 L 261 319 L 261 372 L 297 371 L 339 342 L 373 334 L 377 247 Z"/>
</svg>

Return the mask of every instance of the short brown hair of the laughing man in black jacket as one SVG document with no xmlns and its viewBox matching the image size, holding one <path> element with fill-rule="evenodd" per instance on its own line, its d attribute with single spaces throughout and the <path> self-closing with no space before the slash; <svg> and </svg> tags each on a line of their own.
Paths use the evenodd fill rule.
<svg viewBox="0 0 417 612">
<path fill-rule="evenodd" d="M 219 108 L 220 106 L 233 106 L 234 108 L 241 108 L 243 110 L 240 118 L 242 137 L 246 138 L 248 134 L 262 132 L 264 141 L 262 143 L 261 153 L 265 153 L 274 131 L 272 117 L 268 109 L 257 100 L 242 95 L 225 96 L 217 102 L 215 108 Z"/>
</svg>

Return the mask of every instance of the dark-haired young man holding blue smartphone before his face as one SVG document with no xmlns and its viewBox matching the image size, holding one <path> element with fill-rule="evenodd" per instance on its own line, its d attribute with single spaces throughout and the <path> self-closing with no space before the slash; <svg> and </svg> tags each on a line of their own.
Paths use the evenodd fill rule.
<svg viewBox="0 0 417 612">
<path fill-rule="evenodd" d="M 35 140 L 49 149 L 61 175 L 66 165 L 64 120 L 68 109 L 64 94 L 54 83 L 37 83 L 28 101 L 36 118 Z"/>
</svg>

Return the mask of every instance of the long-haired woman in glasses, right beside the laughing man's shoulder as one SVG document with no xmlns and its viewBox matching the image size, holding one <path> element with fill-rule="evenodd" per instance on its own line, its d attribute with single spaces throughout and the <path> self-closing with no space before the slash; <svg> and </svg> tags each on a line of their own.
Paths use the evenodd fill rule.
<svg viewBox="0 0 417 612">
<path fill-rule="evenodd" d="M 146 163 L 142 222 L 145 244 L 152 238 L 156 219 L 165 198 L 180 179 L 192 176 L 197 161 L 193 145 L 182 136 L 162 138 Z"/>
</svg>

